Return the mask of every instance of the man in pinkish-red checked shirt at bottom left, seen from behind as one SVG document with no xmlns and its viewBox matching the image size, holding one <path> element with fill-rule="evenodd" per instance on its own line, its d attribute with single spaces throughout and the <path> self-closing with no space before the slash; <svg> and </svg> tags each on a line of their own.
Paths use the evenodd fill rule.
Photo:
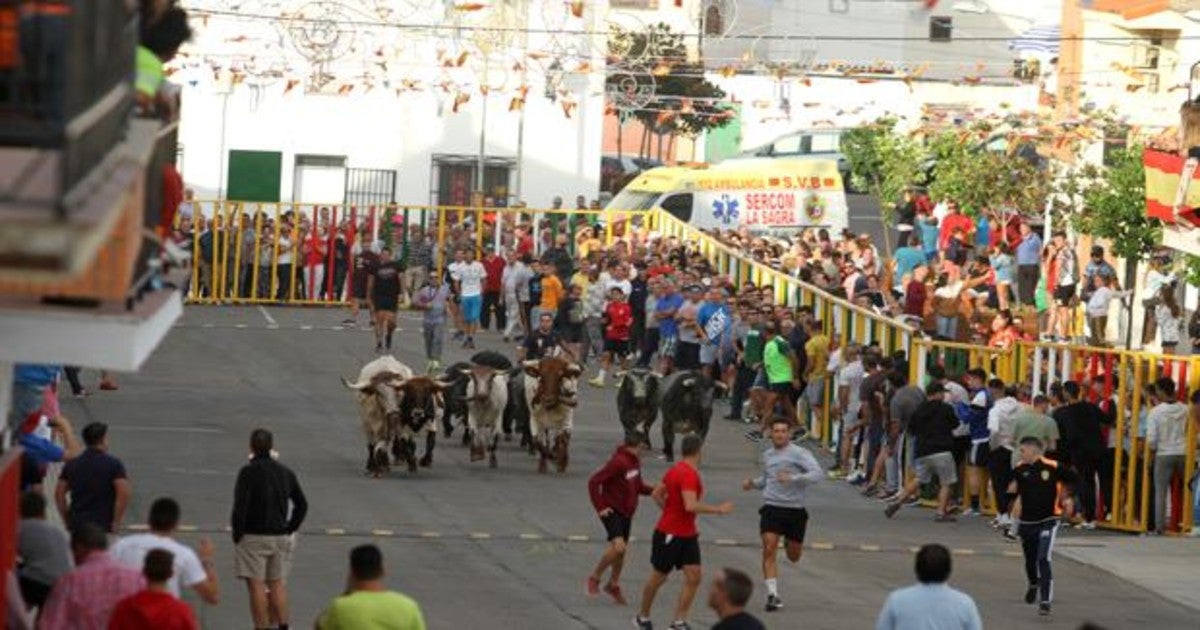
<svg viewBox="0 0 1200 630">
<path fill-rule="evenodd" d="M 40 630 L 104 630 L 116 604 L 142 590 L 142 572 L 118 564 L 108 552 L 104 529 L 84 522 L 71 530 L 76 568 L 50 590 Z"/>
</svg>

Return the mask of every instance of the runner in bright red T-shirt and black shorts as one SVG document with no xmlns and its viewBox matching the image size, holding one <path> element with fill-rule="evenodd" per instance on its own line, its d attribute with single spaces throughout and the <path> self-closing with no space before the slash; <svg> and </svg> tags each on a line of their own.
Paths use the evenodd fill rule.
<svg viewBox="0 0 1200 630">
<path fill-rule="evenodd" d="M 688 611 L 691 610 L 691 600 L 696 598 L 696 589 L 700 587 L 700 532 L 696 529 L 696 515 L 698 514 L 730 514 L 733 504 L 725 502 L 720 505 L 701 503 L 700 497 L 704 492 L 704 486 L 700 481 L 700 449 L 703 439 L 692 433 L 683 438 L 683 460 L 671 467 L 662 476 L 662 482 L 654 488 L 654 500 L 662 506 L 662 516 L 654 528 L 654 536 L 650 550 L 650 565 L 654 571 L 650 574 L 646 588 L 642 590 L 642 607 L 634 617 L 634 626 L 638 630 L 653 630 L 650 623 L 650 607 L 654 605 L 654 596 L 667 581 L 672 570 L 682 569 L 684 575 L 683 588 L 679 590 L 679 601 L 676 604 L 674 620 L 667 626 L 671 630 L 688 630 Z"/>
</svg>

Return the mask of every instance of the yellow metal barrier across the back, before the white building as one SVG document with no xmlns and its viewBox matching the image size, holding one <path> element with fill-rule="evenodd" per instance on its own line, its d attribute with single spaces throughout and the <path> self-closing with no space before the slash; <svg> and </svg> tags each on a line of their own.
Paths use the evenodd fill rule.
<svg viewBox="0 0 1200 630">
<path fill-rule="evenodd" d="M 190 247 L 193 304 L 343 305 L 355 293 L 354 257 L 364 245 L 407 258 L 413 228 L 436 235 L 432 268 L 440 275 L 456 248 L 479 256 L 500 245 L 517 223 L 532 224 L 535 247 L 546 229 L 575 247 L 602 217 L 602 242 L 629 239 L 644 212 L 464 206 L 340 206 L 331 204 L 199 200 L 176 217 L 175 238 Z M 545 223 L 545 227 L 544 227 Z M 390 232 L 390 239 L 385 239 Z M 386 240 L 388 242 L 383 242 Z M 553 241 L 553 239 L 551 239 Z"/>
</svg>

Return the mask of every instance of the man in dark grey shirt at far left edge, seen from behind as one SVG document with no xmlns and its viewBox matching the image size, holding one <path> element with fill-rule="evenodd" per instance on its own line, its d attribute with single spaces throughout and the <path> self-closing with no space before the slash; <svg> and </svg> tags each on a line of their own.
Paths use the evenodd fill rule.
<svg viewBox="0 0 1200 630">
<path fill-rule="evenodd" d="M 54 583 L 71 570 L 71 540 L 61 527 L 46 520 L 46 497 L 41 492 L 20 496 L 17 557 L 20 594 L 30 608 L 41 608 Z"/>
</svg>

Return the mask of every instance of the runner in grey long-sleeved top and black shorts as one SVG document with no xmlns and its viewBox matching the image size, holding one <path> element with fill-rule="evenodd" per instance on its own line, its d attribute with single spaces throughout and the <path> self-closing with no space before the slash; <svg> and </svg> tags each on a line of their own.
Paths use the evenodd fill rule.
<svg viewBox="0 0 1200 630">
<path fill-rule="evenodd" d="M 762 474 L 742 482 L 742 490 L 762 491 L 758 534 L 762 536 L 762 577 L 767 584 L 767 612 L 784 607 L 779 598 L 779 539 L 787 539 L 787 559 L 800 562 L 809 511 L 804 488 L 824 478 L 821 464 L 808 449 L 792 444 L 792 425 L 776 419 L 770 424 L 772 448 L 762 454 Z"/>
</svg>

